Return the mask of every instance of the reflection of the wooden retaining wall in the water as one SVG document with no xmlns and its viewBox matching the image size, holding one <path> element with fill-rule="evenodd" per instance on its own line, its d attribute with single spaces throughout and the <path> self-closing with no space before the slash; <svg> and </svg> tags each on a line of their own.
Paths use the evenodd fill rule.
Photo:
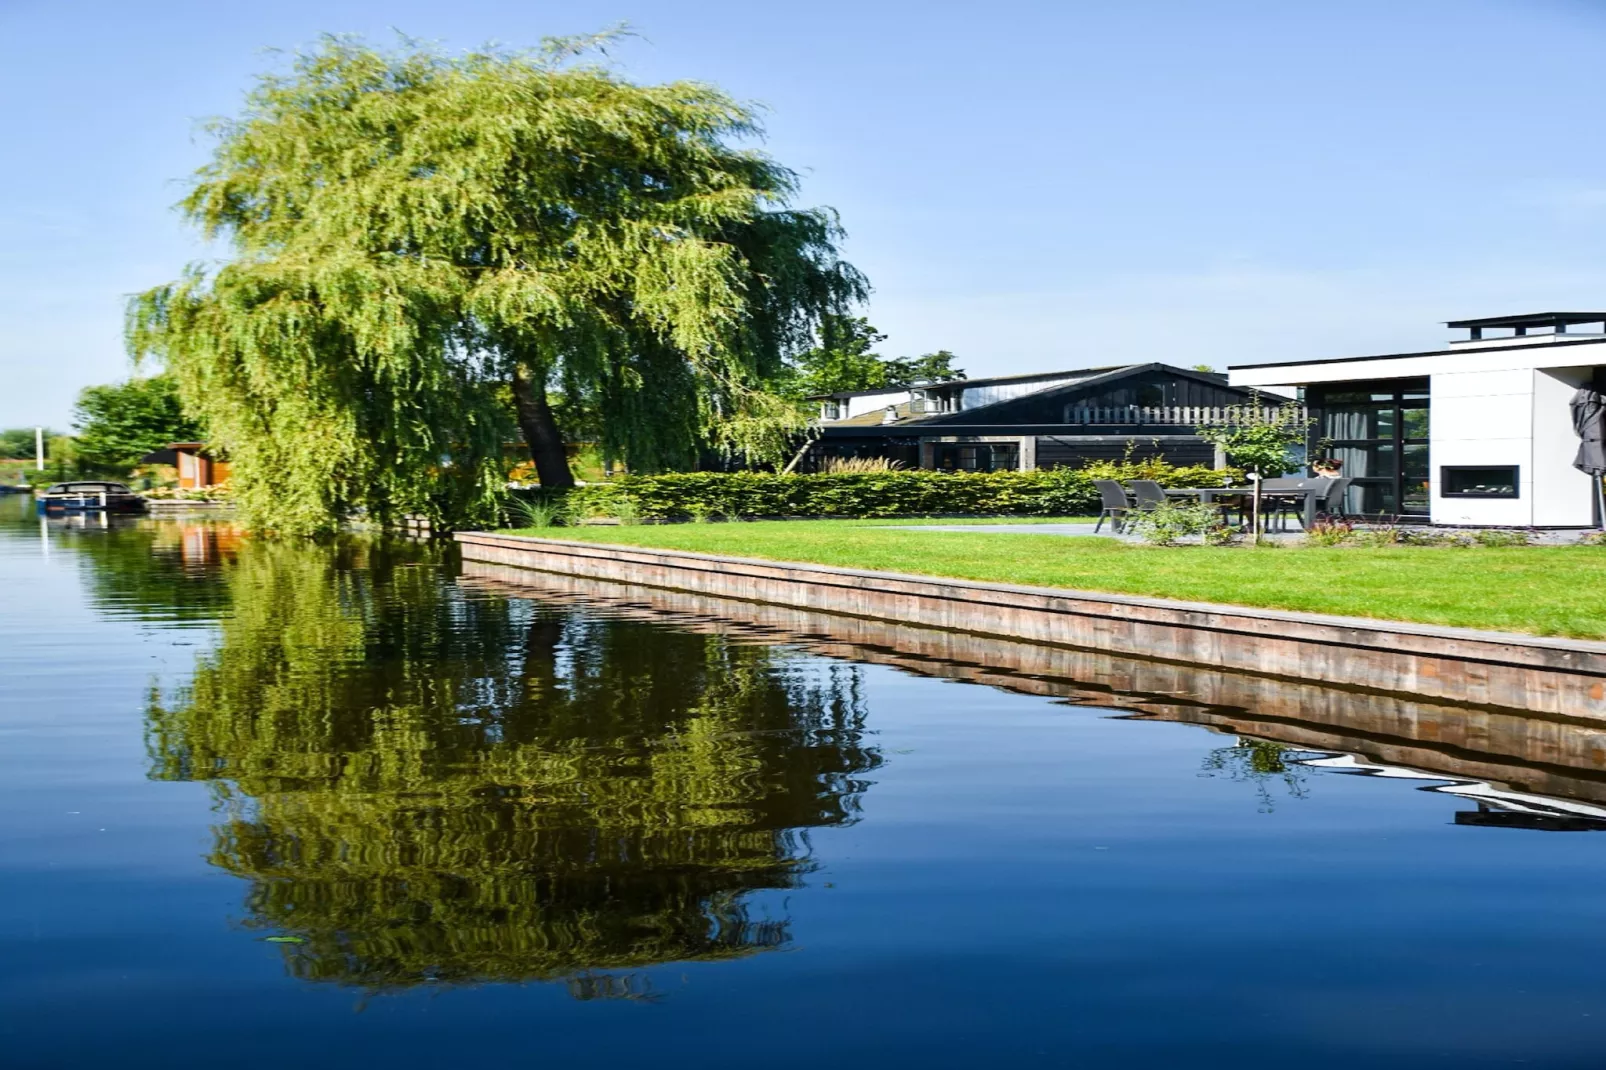
<svg viewBox="0 0 1606 1070">
<path fill-rule="evenodd" d="M 713 628 L 925 676 L 962 680 L 1139 717 L 1204 725 L 1312 750 L 1469 778 L 1564 798 L 1606 802 L 1606 725 L 1521 710 L 1458 707 L 1302 684 L 1097 651 L 1012 643 L 858 617 L 686 594 L 649 586 L 464 562 L 467 582 L 501 582 L 533 598 Z"/>
</svg>

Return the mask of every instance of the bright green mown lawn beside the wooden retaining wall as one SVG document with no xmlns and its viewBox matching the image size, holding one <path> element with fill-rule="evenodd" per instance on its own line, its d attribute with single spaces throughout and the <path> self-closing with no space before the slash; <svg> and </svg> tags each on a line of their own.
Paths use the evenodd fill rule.
<svg viewBox="0 0 1606 1070">
<path fill-rule="evenodd" d="M 917 524 L 954 521 L 917 521 Z M 999 521 L 973 521 L 996 524 Z M 898 521 L 560 527 L 525 535 L 1351 617 L 1606 638 L 1606 548 L 1158 548 Z"/>
</svg>

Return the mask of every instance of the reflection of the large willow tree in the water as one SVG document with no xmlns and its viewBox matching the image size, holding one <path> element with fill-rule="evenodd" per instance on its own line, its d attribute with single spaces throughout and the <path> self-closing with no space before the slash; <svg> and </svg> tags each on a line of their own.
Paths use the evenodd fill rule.
<svg viewBox="0 0 1606 1070">
<path fill-rule="evenodd" d="M 789 940 L 795 885 L 851 821 L 854 670 L 469 596 L 360 545 L 249 545 L 234 614 L 175 702 L 156 776 L 212 781 L 212 861 L 296 975 L 365 986 L 572 978 Z"/>
</svg>

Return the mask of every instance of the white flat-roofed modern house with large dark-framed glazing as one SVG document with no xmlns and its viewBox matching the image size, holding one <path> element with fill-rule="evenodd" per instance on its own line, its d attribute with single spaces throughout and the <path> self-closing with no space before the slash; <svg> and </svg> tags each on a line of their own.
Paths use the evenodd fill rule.
<svg viewBox="0 0 1606 1070">
<path fill-rule="evenodd" d="M 1229 381 L 1299 390 L 1314 439 L 1355 479 L 1351 513 L 1489 527 L 1598 524 L 1595 480 L 1572 468 L 1579 437 L 1569 403 L 1606 373 L 1606 312 L 1445 326 L 1468 336 L 1423 353 L 1240 365 Z"/>
</svg>

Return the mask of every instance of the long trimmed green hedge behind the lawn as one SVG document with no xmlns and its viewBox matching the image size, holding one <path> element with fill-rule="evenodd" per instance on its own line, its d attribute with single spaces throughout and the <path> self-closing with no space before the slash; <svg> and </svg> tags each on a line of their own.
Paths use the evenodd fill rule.
<svg viewBox="0 0 1606 1070">
<path fill-rule="evenodd" d="M 1222 487 L 1240 479 L 1240 472 L 1174 468 L 1163 461 L 1037 472 L 678 472 L 622 476 L 567 492 L 533 490 L 519 492 L 519 496 L 554 506 L 564 522 L 591 517 L 1092 516 L 1099 511 L 1095 479 Z M 512 522 L 519 524 L 517 509 Z"/>
</svg>

